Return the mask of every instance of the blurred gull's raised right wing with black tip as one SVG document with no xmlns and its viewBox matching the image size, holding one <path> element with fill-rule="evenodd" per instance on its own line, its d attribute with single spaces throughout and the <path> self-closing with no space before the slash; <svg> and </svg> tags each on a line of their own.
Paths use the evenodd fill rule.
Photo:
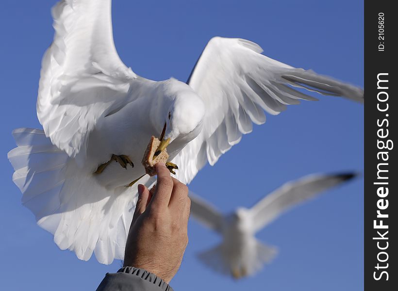
<svg viewBox="0 0 398 291">
<path fill-rule="evenodd" d="M 283 211 L 354 177 L 353 173 L 310 175 L 285 183 L 250 209 L 253 215 L 254 229 L 260 230 Z"/>
</svg>

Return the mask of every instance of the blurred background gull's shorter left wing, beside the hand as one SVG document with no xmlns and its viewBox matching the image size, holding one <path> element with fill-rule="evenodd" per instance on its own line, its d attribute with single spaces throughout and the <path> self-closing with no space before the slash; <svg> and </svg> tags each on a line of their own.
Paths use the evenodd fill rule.
<svg viewBox="0 0 398 291">
<path fill-rule="evenodd" d="M 199 196 L 189 192 L 191 198 L 191 216 L 201 224 L 217 231 L 221 231 L 223 216 L 212 205 L 201 199 Z"/>
</svg>

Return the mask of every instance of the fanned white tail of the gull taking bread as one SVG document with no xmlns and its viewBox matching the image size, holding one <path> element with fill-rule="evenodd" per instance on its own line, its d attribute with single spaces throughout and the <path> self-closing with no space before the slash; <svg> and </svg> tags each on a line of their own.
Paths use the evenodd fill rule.
<svg viewBox="0 0 398 291">
<path fill-rule="evenodd" d="M 126 201 L 134 193 L 119 187 L 120 193 L 112 195 L 92 175 L 79 172 L 83 170 L 74 159 L 52 145 L 43 130 L 15 129 L 13 136 L 17 147 L 8 153 L 13 181 L 38 226 L 54 235 L 60 249 L 75 252 L 79 259 L 88 260 L 93 252 L 104 264 L 123 259 L 134 210 Z M 121 216 L 112 205 L 124 209 Z"/>
</svg>

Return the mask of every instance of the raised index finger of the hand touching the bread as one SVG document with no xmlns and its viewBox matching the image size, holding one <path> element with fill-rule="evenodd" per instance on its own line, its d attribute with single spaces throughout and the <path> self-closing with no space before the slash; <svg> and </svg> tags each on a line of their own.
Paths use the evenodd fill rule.
<svg viewBox="0 0 398 291">
<path fill-rule="evenodd" d="M 158 177 L 151 203 L 156 205 L 156 207 L 167 207 L 173 191 L 173 180 L 170 177 L 170 171 L 164 163 L 158 162 L 155 167 Z"/>
</svg>

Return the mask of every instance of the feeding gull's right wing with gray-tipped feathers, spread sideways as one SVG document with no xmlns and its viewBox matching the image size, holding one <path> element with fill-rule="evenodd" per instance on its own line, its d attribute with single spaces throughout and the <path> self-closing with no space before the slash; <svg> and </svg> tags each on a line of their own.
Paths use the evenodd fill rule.
<svg viewBox="0 0 398 291">
<path fill-rule="evenodd" d="M 262 55 L 257 44 L 244 39 L 215 37 L 203 50 L 188 84 L 206 106 L 202 131 L 174 159 L 178 178 L 189 183 L 198 171 L 239 143 L 252 123 L 265 123 L 300 99 L 316 100 L 294 88 L 362 102 L 362 89 L 293 68 Z"/>
</svg>

